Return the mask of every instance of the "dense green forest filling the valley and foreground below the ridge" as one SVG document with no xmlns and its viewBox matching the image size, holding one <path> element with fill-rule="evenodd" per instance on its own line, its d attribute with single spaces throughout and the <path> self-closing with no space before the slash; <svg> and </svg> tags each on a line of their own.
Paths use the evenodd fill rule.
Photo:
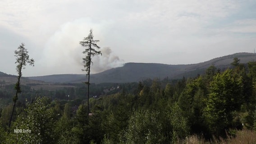
<svg viewBox="0 0 256 144">
<path fill-rule="evenodd" d="M 89 115 L 85 84 L 22 85 L 10 129 L 15 85 L 0 85 L 0 144 L 231 144 L 249 134 L 256 142 L 256 62 L 234 58 L 180 80 L 91 84 Z"/>
</svg>

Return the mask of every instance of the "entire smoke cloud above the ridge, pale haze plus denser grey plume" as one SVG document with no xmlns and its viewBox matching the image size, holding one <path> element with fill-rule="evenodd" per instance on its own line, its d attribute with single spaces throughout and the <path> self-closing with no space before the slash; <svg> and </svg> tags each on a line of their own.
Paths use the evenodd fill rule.
<svg viewBox="0 0 256 144">
<path fill-rule="evenodd" d="M 101 25 L 107 26 L 107 23 L 102 23 Z M 106 45 L 104 32 L 102 32 L 104 30 L 101 25 L 95 25 L 87 19 L 79 19 L 62 25 L 49 38 L 44 50 L 41 52 L 43 56 L 38 65 L 43 65 L 43 63 L 47 63 L 47 65 L 40 67 L 37 75 L 41 75 L 41 73 L 44 73 L 44 75 L 85 73 L 81 70 L 84 69 L 82 58 L 85 55 L 82 54 L 82 51 L 85 48 L 79 44 L 79 41 L 82 41 L 83 37 L 86 37 L 91 27 L 94 26 L 95 31 L 93 31 L 93 34 L 96 40 L 100 40 L 97 45 L 100 47 Z M 109 47 L 103 47 L 100 50 L 102 56 L 99 55 L 92 58 L 92 73 L 123 66 L 123 60 L 115 55 Z"/>
</svg>

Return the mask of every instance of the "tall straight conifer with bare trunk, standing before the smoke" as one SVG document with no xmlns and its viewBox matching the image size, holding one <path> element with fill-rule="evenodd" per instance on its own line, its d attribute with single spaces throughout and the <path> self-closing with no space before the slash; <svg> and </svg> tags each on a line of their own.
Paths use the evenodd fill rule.
<svg viewBox="0 0 256 144">
<path fill-rule="evenodd" d="M 90 71 L 91 71 L 91 57 L 95 56 L 95 55 L 99 55 L 101 54 L 101 51 L 97 51 L 96 49 L 94 49 L 93 47 L 100 49 L 100 47 L 98 45 L 96 45 L 97 42 L 99 42 L 100 40 L 93 40 L 93 34 L 92 34 L 92 29 L 90 30 L 90 33 L 87 37 L 85 37 L 83 39 L 83 41 L 80 41 L 80 45 L 82 45 L 82 47 L 86 47 L 86 49 L 82 52 L 83 54 L 86 54 L 85 58 L 82 58 L 84 65 L 84 68 L 86 69 L 82 69 L 82 71 L 86 71 L 87 72 L 87 76 L 88 76 L 88 82 L 86 82 L 87 84 L 87 112 L 89 114 L 89 86 L 90 86 Z M 102 54 L 101 54 L 102 55 Z"/>
</svg>

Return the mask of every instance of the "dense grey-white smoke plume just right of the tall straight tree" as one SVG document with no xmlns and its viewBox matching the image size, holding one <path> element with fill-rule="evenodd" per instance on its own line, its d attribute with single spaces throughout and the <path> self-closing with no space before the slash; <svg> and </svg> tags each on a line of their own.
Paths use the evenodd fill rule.
<svg viewBox="0 0 256 144">
<path fill-rule="evenodd" d="M 92 58 L 92 73 L 103 72 L 105 70 L 115 67 L 123 67 L 124 61 L 120 59 L 117 55 L 115 55 L 110 47 L 104 47 L 100 50 L 102 55 L 97 55 Z"/>
</svg>

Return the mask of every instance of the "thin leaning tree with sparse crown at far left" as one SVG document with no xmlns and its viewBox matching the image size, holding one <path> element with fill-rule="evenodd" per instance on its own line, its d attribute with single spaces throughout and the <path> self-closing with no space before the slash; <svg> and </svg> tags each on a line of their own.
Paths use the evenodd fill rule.
<svg viewBox="0 0 256 144">
<path fill-rule="evenodd" d="M 34 59 L 29 59 L 29 55 L 27 52 L 27 49 L 24 48 L 24 44 L 21 43 L 21 45 L 19 45 L 18 50 L 14 51 L 14 56 L 16 57 L 16 62 L 18 65 L 16 66 L 16 71 L 18 72 L 18 81 L 15 85 L 15 90 L 16 90 L 16 94 L 14 96 L 14 106 L 13 106 L 13 111 L 10 117 L 10 121 L 9 121 L 9 128 L 11 126 L 11 121 L 13 118 L 13 114 L 14 114 L 14 108 L 15 108 L 15 104 L 16 101 L 18 100 L 18 94 L 21 93 L 21 89 L 20 89 L 20 78 L 22 76 L 22 69 L 25 69 L 25 66 L 27 65 L 27 63 L 31 66 L 34 66 Z"/>
</svg>

